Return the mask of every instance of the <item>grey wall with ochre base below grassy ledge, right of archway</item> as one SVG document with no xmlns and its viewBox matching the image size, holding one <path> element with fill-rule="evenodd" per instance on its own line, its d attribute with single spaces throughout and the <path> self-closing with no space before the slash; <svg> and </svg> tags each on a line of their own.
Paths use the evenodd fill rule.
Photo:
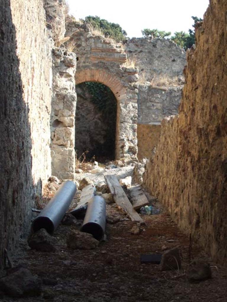
<svg viewBox="0 0 227 302">
<path fill-rule="evenodd" d="M 161 121 L 178 113 L 182 86 L 154 87 L 148 82 L 139 85 L 138 93 L 138 159 L 150 157 L 157 145 Z"/>
</svg>

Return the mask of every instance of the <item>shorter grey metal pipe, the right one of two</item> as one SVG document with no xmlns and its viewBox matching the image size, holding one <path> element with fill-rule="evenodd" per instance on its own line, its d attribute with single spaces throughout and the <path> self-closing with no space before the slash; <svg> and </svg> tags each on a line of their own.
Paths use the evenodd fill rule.
<svg viewBox="0 0 227 302">
<path fill-rule="evenodd" d="M 106 202 L 101 196 L 94 196 L 87 206 L 87 212 L 81 231 L 90 233 L 95 239 L 101 240 L 104 237 L 106 226 Z"/>
</svg>

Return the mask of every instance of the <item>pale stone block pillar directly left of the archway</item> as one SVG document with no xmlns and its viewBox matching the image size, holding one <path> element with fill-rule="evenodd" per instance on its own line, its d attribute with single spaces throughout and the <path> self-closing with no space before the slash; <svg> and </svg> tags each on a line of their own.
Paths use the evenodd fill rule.
<svg viewBox="0 0 227 302">
<path fill-rule="evenodd" d="M 75 53 L 53 49 L 51 158 L 52 175 L 60 179 L 75 176 L 76 62 Z"/>
</svg>

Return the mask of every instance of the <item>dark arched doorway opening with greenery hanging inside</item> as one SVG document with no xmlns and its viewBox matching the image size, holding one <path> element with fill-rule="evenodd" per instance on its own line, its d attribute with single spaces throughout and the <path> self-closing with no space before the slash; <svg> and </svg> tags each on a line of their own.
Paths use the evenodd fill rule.
<svg viewBox="0 0 227 302">
<path fill-rule="evenodd" d="M 99 162 L 115 159 L 117 100 L 106 85 L 83 82 L 76 85 L 75 150 Z"/>
</svg>

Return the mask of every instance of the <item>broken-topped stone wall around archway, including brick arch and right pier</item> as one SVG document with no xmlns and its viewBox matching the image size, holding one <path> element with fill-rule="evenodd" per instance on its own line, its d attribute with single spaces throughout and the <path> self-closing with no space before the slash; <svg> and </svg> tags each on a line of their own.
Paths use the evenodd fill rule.
<svg viewBox="0 0 227 302">
<path fill-rule="evenodd" d="M 124 66 L 126 53 L 120 43 L 94 37 L 89 27 L 71 22 L 67 36 L 75 43 L 76 84 L 100 82 L 117 99 L 116 159 L 137 156 L 138 69 Z"/>
</svg>

